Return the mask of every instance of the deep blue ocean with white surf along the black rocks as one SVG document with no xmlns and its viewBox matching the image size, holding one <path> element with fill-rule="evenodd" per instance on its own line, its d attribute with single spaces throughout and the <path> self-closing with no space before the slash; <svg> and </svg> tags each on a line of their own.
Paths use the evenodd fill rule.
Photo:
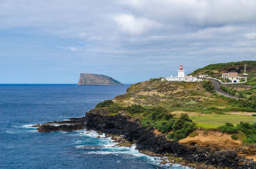
<svg viewBox="0 0 256 169">
<path fill-rule="evenodd" d="M 129 85 L 0 85 L 0 168 L 185 168 L 161 165 L 95 131 L 39 133 L 32 124 L 83 117 Z"/>
</svg>

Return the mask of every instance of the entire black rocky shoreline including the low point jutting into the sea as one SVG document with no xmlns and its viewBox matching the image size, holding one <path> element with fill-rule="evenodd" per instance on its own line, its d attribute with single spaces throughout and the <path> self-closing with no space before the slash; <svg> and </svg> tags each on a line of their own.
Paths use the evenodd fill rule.
<svg viewBox="0 0 256 169">
<path fill-rule="evenodd" d="M 255 162 L 237 156 L 235 151 L 211 151 L 197 145 L 182 145 L 168 140 L 165 135 L 156 135 L 152 128 L 142 127 L 138 119 L 122 114 L 108 115 L 104 109 L 92 109 L 82 118 L 36 124 L 34 127 L 38 127 L 39 132 L 95 129 L 121 142 L 120 146 L 136 143 L 140 152 L 161 156 L 163 163 L 169 161 L 193 168 L 256 168 Z"/>
</svg>

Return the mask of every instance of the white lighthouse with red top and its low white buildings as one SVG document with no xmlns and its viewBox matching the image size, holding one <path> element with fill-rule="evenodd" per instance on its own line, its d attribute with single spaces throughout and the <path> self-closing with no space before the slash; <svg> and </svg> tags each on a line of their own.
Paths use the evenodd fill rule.
<svg viewBox="0 0 256 169">
<path fill-rule="evenodd" d="M 166 77 L 162 78 L 161 81 L 167 80 L 167 81 L 179 81 L 179 82 L 198 82 L 202 81 L 201 78 L 192 77 L 192 76 L 185 76 L 185 70 L 183 69 L 183 66 L 180 64 L 180 68 L 178 71 L 178 77 Z"/>
</svg>

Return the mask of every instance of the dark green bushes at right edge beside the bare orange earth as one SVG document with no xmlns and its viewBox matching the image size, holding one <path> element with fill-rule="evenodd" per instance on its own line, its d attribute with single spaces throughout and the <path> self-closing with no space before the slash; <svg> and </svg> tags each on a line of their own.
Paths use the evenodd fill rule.
<svg viewBox="0 0 256 169">
<path fill-rule="evenodd" d="M 256 122 L 250 124 L 249 122 L 240 122 L 237 126 L 233 124 L 226 123 L 223 126 L 219 127 L 222 132 L 226 132 L 228 134 L 238 133 L 238 131 L 243 132 L 246 135 L 246 142 L 248 143 L 256 143 Z M 232 139 L 236 140 L 238 136 L 232 135 Z"/>
</svg>

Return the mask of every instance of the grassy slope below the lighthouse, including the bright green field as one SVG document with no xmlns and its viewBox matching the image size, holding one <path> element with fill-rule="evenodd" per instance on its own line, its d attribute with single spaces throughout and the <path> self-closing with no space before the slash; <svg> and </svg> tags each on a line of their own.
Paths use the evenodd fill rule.
<svg viewBox="0 0 256 169">
<path fill-rule="evenodd" d="M 161 106 L 175 115 L 187 112 L 191 119 L 203 128 L 218 128 L 225 122 L 238 124 L 241 121 L 256 121 L 256 117 L 228 114 L 230 108 L 236 110 L 236 105 L 229 103 L 230 98 L 205 91 L 202 83 L 140 82 L 131 85 L 125 94 L 116 96 L 114 100 L 122 106 L 132 104 L 146 108 Z"/>
</svg>

